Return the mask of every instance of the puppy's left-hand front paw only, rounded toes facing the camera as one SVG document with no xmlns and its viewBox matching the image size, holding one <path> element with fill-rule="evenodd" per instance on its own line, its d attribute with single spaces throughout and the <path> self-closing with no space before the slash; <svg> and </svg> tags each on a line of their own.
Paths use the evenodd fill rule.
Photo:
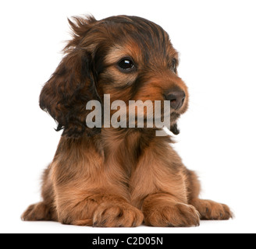
<svg viewBox="0 0 256 249">
<path fill-rule="evenodd" d="M 143 222 L 143 213 L 126 203 L 102 203 L 94 212 L 93 226 L 134 227 Z"/>
</svg>

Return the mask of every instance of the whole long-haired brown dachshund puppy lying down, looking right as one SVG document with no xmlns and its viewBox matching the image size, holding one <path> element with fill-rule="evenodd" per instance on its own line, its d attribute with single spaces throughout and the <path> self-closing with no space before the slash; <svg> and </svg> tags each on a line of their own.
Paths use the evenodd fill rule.
<svg viewBox="0 0 256 249">
<path fill-rule="evenodd" d="M 159 128 L 87 125 L 87 103 L 96 100 L 103 111 L 108 95 L 111 103 L 127 105 L 168 100 L 170 129 L 180 132 L 176 121 L 189 94 L 165 30 L 135 16 L 75 17 L 69 24 L 73 39 L 40 96 L 62 138 L 44 171 L 42 202 L 22 219 L 113 227 L 199 226 L 200 219 L 231 218 L 227 205 L 198 198 L 196 174 L 184 167 L 170 136 L 156 136 Z"/>
</svg>

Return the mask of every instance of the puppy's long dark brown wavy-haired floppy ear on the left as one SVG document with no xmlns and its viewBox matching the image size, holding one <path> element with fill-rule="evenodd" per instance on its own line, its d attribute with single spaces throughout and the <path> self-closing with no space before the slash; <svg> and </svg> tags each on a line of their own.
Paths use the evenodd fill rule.
<svg viewBox="0 0 256 249">
<path fill-rule="evenodd" d="M 99 100 L 95 86 L 91 54 L 75 47 L 64 57 L 40 95 L 40 107 L 58 122 L 57 131 L 77 138 L 95 135 L 99 128 L 87 128 L 87 102 Z"/>
</svg>

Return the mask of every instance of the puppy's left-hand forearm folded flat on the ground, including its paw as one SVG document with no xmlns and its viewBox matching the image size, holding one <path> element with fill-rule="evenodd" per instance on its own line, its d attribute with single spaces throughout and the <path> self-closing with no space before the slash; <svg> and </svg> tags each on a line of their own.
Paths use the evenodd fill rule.
<svg viewBox="0 0 256 249">
<path fill-rule="evenodd" d="M 119 195 L 84 192 L 84 196 L 83 200 L 66 199 L 66 205 L 58 206 L 59 222 L 100 227 L 132 227 L 143 222 L 142 212 Z"/>
</svg>

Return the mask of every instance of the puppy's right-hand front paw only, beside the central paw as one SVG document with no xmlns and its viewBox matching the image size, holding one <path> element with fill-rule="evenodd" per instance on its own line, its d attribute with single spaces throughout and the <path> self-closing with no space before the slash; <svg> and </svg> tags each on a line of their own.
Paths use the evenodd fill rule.
<svg viewBox="0 0 256 249">
<path fill-rule="evenodd" d="M 192 205 L 170 203 L 144 212 L 144 221 L 148 226 L 199 226 L 200 215 Z"/>
</svg>

